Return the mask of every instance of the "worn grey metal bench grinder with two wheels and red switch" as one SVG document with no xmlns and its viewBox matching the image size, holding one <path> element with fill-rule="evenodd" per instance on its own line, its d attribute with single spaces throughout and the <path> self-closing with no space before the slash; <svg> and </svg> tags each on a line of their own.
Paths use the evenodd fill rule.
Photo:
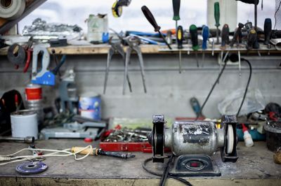
<svg viewBox="0 0 281 186">
<path fill-rule="evenodd" d="M 175 156 L 171 175 L 221 176 L 210 157 L 217 150 L 221 150 L 222 162 L 237 161 L 235 115 L 223 115 L 220 129 L 209 121 L 176 121 L 170 129 L 164 123 L 164 115 L 153 116 L 152 160 L 164 163 L 164 148 L 170 148 Z"/>
</svg>

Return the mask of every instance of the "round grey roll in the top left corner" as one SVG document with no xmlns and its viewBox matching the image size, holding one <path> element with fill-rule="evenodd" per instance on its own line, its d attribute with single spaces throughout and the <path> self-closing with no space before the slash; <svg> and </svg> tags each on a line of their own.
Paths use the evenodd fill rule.
<svg viewBox="0 0 281 186">
<path fill-rule="evenodd" d="M 0 17 L 15 20 L 25 10 L 25 0 L 0 0 Z"/>
</svg>

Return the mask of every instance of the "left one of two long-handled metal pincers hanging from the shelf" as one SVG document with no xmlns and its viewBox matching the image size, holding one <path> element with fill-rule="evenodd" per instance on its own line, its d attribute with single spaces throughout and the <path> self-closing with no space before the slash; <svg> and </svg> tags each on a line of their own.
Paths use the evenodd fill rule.
<svg viewBox="0 0 281 186">
<path fill-rule="evenodd" d="M 106 63 L 106 72 L 105 72 L 105 83 L 104 83 L 104 86 L 103 86 L 103 94 L 105 94 L 105 90 L 106 90 L 106 86 L 107 86 L 107 79 L 108 79 L 108 73 L 110 71 L 110 62 L 111 62 L 111 59 L 112 59 L 112 55 L 114 55 L 115 52 L 118 52 L 120 55 L 122 55 L 122 58 L 124 60 L 124 65 L 125 65 L 125 52 L 124 52 L 124 49 L 122 47 L 121 41 L 112 42 L 112 38 L 110 38 L 109 43 L 110 43 L 111 47 L 110 47 L 110 50 L 108 50 L 108 53 L 107 53 L 107 63 Z M 130 92 L 132 92 L 131 83 L 130 83 L 130 80 L 129 80 L 129 75 L 127 74 L 125 78 L 128 81 Z"/>
</svg>

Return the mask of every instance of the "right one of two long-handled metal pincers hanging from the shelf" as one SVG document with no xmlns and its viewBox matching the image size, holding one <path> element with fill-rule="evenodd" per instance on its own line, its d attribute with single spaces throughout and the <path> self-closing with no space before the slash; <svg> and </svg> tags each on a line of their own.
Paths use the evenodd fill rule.
<svg viewBox="0 0 281 186">
<path fill-rule="evenodd" d="M 124 41 L 129 45 L 126 49 L 126 61 L 125 61 L 125 71 L 124 71 L 124 83 L 123 83 L 123 94 L 125 94 L 125 84 L 126 84 L 126 77 L 128 76 L 128 64 L 131 57 L 131 52 L 134 50 L 138 54 L 138 62 L 141 67 L 141 77 L 143 78 L 143 89 L 146 93 L 146 86 L 145 86 L 145 72 L 143 66 L 143 55 L 141 54 L 141 48 L 139 45 L 141 44 L 141 40 L 136 36 L 127 36 L 124 38 Z"/>
</svg>

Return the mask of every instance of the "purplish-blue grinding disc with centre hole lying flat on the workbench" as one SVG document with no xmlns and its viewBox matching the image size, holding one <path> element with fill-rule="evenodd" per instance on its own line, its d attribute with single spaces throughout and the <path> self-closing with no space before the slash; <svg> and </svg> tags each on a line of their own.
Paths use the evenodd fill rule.
<svg viewBox="0 0 281 186">
<path fill-rule="evenodd" d="M 15 167 L 15 171 L 20 174 L 30 175 L 44 172 L 47 168 L 48 166 L 42 162 L 30 162 L 18 165 L 17 167 Z"/>
</svg>

